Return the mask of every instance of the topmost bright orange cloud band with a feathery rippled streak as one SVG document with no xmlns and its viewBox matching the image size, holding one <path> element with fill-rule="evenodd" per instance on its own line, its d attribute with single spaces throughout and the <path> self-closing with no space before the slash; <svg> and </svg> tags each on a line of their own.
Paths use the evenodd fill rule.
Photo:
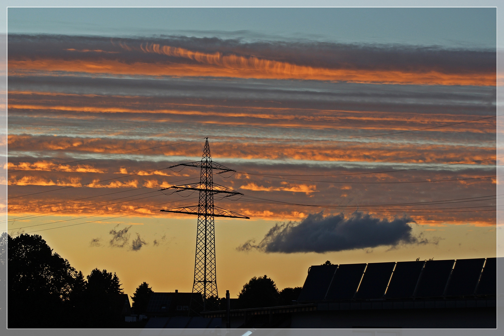
<svg viewBox="0 0 504 336">
<path fill-rule="evenodd" d="M 171 53 L 171 47 L 169 47 Z M 145 48 L 144 48 L 145 49 Z M 174 48 L 180 49 L 180 48 Z M 145 49 L 147 50 L 147 49 Z M 185 49 L 182 49 L 185 50 Z M 154 51 L 153 51 L 154 52 Z M 178 54 L 174 52 L 174 54 Z M 10 60 L 9 76 L 37 72 L 81 72 L 92 74 L 175 76 L 175 77 L 230 77 L 256 79 L 319 80 L 352 83 L 414 84 L 414 85 L 477 85 L 494 86 L 495 73 L 454 73 L 437 71 L 414 73 L 387 70 L 327 69 L 295 65 L 287 62 L 259 59 L 254 56 L 202 54 L 187 50 L 180 56 L 195 57 L 199 63 L 124 63 L 118 60 L 36 59 Z M 199 56 L 197 56 L 199 54 Z M 185 57 L 184 57 L 185 58 Z"/>
</svg>

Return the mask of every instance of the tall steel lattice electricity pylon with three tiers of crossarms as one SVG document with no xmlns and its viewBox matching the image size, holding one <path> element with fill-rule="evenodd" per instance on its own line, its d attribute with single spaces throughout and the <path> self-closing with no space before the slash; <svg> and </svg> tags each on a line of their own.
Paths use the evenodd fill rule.
<svg viewBox="0 0 504 336">
<path fill-rule="evenodd" d="M 201 161 L 181 163 L 168 168 L 174 168 L 177 166 L 201 168 L 200 182 L 186 185 L 175 185 L 161 190 L 178 189 L 175 192 L 180 192 L 182 190 L 199 191 L 200 199 L 198 205 L 182 208 L 164 209 L 161 211 L 198 215 L 193 293 L 202 294 L 203 311 L 216 309 L 217 307 L 214 307 L 214 304 L 212 303 L 217 303 L 217 300 L 212 300 L 214 302 L 211 303 L 207 302 L 207 299 L 210 297 L 214 297 L 215 299 L 218 299 L 219 297 L 217 294 L 217 277 L 215 270 L 214 218 L 230 217 L 249 219 L 249 217 L 214 206 L 215 194 L 224 193 L 227 194 L 224 197 L 229 197 L 233 195 L 242 195 L 242 193 L 213 182 L 214 170 L 219 170 L 217 174 L 235 172 L 235 170 L 229 169 L 212 161 L 208 138 L 206 138 L 205 141 L 205 148 L 203 150 L 203 157 Z M 199 313 L 201 310 L 198 309 L 199 307 L 195 307 L 197 302 L 198 301 L 195 300 L 194 296 L 192 296 L 190 310 Z"/>
</svg>

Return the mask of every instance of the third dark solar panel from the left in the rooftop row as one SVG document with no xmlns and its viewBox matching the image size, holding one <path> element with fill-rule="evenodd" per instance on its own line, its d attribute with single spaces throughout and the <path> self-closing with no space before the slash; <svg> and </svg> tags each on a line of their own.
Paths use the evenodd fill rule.
<svg viewBox="0 0 504 336">
<path fill-rule="evenodd" d="M 395 264 L 395 262 L 368 263 L 355 298 L 376 299 L 383 297 Z"/>
</svg>

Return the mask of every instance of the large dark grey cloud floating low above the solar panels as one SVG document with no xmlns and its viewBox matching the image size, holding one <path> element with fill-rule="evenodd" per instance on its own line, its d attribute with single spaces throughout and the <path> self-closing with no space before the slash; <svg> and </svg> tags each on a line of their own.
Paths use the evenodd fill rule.
<svg viewBox="0 0 504 336">
<path fill-rule="evenodd" d="M 376 218 L 362 212 L 354 212 L 345 218 L 343 214 L 324 217 L 323 213 L 309 214 L 301 222 L 276 224 L 259 244 L 248 240 L 237 247 L 247 251 L 264 252 L 331 252 L 398 244 L 425 244 L 427 240 L 412 234 L 410 217 L 393 220 Z"/>
</svg>

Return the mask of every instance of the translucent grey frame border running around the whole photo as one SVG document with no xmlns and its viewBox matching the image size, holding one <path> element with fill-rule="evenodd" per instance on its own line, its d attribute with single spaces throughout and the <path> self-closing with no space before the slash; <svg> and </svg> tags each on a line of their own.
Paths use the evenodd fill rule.
<svg viewBox="0 0 504 336">
<path fill-rule="evenodd" d="M 5 12 L 0 11 L 0 43 L 6 45 L 7 51 L 7 7 L 68 7 L 68 0 L 44 0 L 43 2 L 36 0 L 0 0 L 2 3 L 2 8 L 6 8 Z M 356 0 L 356 1 L 344 1 L 344 0 L 312 0 L 308 2 L 306 0 L 255 0 L 255 1 L 242 1 L 239 7 L 495 7 L 497 9 L 497 76 L 499 73 L 504 74 L 504 38 L 502 38 L 499 32 L 504 31 L 504 21 L 499 18 L 502 17 L 504 11 L 504 6 L 500 5 L 498 0 L 465 0 L 465 1 L 454 1 L 454 0 L 421 0 L 420 2 L 415 2 L 415 6 L 411 6 L 412 2 L 400 1 L 400 0 Z M 72 7 L 236 7 L 236 1 L 233 0 L 187 0 L 185 2 L 180 2 L 180 0 L 74 0 L 72 2 Z M 5 27 L 5 30 L 3 29 Z M 501 60 L 500 62 L 498 60 Z M 0 64 L 2 61 L 5 62 L 7 66 L 7 52 L 5 54 L 0 54 Z M 5 73 L 0 73 L 0 82 L 5 83 L 7 88 L 7 70 Z M 7 90 L 6 90 L 7 91 Z M 7 102 L 7 92 L 4 93 L 5 101 Z M 497 86 L 497 115 L 504 113 L 504 108 L 502 104 L 504 101 L 504 87 Z M 5 130 L 5 132 L 0 132 L 0 136 L 7 137 L 7 105 L 5 108 L 0 107 L 0 127 Z M 5 114 L 5 117 L 4 117 Z M 500 129 L 499 122 L 502 121 L 504 117 L 497 117 L 497 156 L 503 156 L 504 146 L 501 146 L 500 142 L 500 132 L 504 132 Z M 504 134 L 503 134 L 504 135 Z M 5 139 L 7 144 L 7 139 Z M 7 158 L 7 145 L 0 147 L 0 158 Z M 3 164 L 4 162 L 0 162 Z M 497 163 L 497 171 L 504 172 L 504 166 L 500 166 Z M 502 175 L 502 174 L 497 174 Z M 504 193 L 504 189 L 499 185 L 500 179 L 497 178 L 496 192 L 497 194 Z M 5 185 L 5 184 L 4 184 Z M 7 190 L 7 186 L 1 185 L 0 188 L 3 191 L 4 188 Z M 1 194 L 1 193 L 0 193 Z M 503 201 L 497 200 L 497 206 L 504 205 Z M 499 230 L 504 227 L 503 224 L 499 224 L 502 211 L 497 210 L 497 279 L 504 279 L 504 235 L 499 234 Z M 7 213 L 3 214 L 6 218 Z M 3 228 L 7 229 L 7 221 L 3 221 Z M 4 260 L 6 261 L 6 260 Z M 4 265 L 0 263 L 0 282 L 6 281 L 6 270 L 7 263 Z M 3 297 L 0 298 L 0 330 L 4 335 L 117 335 L 117 336 L 130 336 L 130 335 L 142 335 L 142 336 L 157 336 L 157 335 L 219 335 L 219 336 L 240 336 L 247 329 L 6 329 L 7 326 L 7 315 L 6 315 L 6 302 Z M 449 335 L 449 336 L 460 336 L 460 335 L 500 335 L 502 331 L 499 329 L 504 329 L 504 286 L 500 286 L 497 280 L 497 329 L 260 329 L 255 330 L 255 336 L 262 335 L 278 335 L 278 336 L 297 336 L 297 335 L 352 335 L 352 336 L 363 336 L 363 335 Z M 4 330 L 5 329 L 5 330 Z"/>
</svg>

